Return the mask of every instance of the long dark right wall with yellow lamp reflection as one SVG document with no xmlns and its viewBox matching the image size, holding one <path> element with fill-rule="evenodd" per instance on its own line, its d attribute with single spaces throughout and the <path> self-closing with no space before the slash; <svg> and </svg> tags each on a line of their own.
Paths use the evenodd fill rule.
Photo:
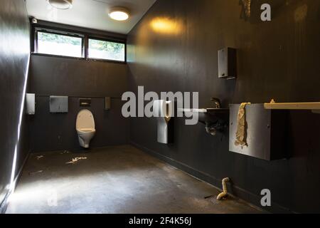
<svg viewBox="0 0 320 228">
<path fill-rule="evenodd" d="M 261 4 L 272 5 L 272 22 L 260 20 Z M 129 33 L 128 65 L 133 90 L 198 91 L 229 103 L 320 100 L 320 1 L 252 1 L 243 18 L 238 0 L 159 0 Z M 154 30 L 154 21 L 163 29 Z M 167 25 L 167 27 L 166 27 Z M 218 49 L 238 48 L 238 79 L 218 79 Z M 174 145 L 156 142 L 154 119 L 132 118 L 134 145 L 259 205 L 260 191 L 272 192 L 273 212 L 320 212 L 320 116 L 290 113 L 292 157 L 267 162 L 228 151 L 228 133 L 212 137 L 204 126 L 176 120 Z M 306 194 L 307 192 L 307 194 Z M 309 196 L 312 197 L 309 197 Z"/>
</svg>

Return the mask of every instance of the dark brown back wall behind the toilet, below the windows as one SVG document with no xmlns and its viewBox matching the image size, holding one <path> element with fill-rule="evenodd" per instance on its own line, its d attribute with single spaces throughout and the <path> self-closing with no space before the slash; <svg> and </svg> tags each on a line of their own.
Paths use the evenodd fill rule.
<svg viewBox="0 0 320 228">
<path fill-rule="evenodd" d="M 79 98 L 91 98 L 97 133 L 91 147 L 126 144 L 129 120 L 121 115 L 121 95 L 128 90 L 127 65 L 82 61 L 53 56 L 31 56 L 28 91 L 36 93 L 36 115 L 30 117 L 31 151 L 80 149 L 75 120 L 83 107 Z M 69 112 L 49 112 L 50 95 L 68 95 Z M 112 97 L 112 109 L 104 110 L 104 98 Z"/>
</svg>

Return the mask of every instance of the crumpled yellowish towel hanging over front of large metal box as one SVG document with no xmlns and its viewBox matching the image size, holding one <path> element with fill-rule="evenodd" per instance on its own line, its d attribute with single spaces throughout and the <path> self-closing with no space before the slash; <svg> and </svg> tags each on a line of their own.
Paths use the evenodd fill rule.
<svg viewBox="0 0 320 228">
<path fill-rule="evenodd" d="M 245 123 L 245 106 L 251 103 L 242 103 L 238 111 L 237 133 L 235 133 L 235 145 L 242 148 L 247 146 L 247 126 Z"/>
</svg>

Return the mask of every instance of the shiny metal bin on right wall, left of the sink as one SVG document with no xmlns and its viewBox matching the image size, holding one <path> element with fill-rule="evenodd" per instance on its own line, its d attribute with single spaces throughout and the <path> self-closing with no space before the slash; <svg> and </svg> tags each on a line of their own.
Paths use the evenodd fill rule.
<svg viewBox="0 0 320 228">
<path fill-rule="evenodd" d="M 154 100 L 154 117 L 157 118 L 157 140 L 163 144 L 174 142 L 174 103 L 167 100 Z"/>
</svg>

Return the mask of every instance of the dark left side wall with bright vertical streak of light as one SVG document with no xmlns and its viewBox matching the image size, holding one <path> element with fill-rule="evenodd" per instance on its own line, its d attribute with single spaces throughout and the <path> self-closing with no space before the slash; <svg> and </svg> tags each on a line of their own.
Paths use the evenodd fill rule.
<svg viewBox="0 0 320 228">
<path fill-rule="evenodd" d="M 29 24 L 23 0 L 0 7 L 0 204 L 9 190 L 16 151 L 16 173 L 28 153 L 24 88 L 30 53 Z M 21 113 L 22 112 L 22 113 Z"/>
</svg>

